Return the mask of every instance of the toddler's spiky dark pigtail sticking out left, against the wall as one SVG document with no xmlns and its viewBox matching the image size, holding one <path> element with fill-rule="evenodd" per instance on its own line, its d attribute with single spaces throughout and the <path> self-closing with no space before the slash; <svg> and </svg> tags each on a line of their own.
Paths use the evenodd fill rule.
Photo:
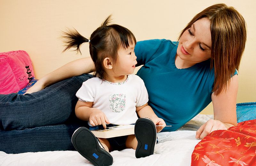
<svg viewBox="0 0 256 166">
<path fill-rule="evenodd" d="M 63 52 L 70 49 L 71 47 L 74 47 L 76 48 L 75 51 L 81 54 L 80 46 L 84 42 L 89 42 L 89 40 L 86 39 L 84 36 L 82 36 L 79 32 L 77 32 L 76 29 L 74 30 L 68 29 L 67 32 L 63 32 L 63 35 L 61 36 L 61 38 L 64 39 L 63 40 L 65 44 L 64 46 L 66 46 Z"/>
</svg>

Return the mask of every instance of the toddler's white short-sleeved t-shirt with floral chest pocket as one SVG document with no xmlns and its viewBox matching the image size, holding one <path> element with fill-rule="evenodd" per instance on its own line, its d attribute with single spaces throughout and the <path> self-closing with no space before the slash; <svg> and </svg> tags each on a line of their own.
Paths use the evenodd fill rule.
<svg viewBox="0 0 256 166">
<path fill-rule="evenodd" d="M 92 107 L 104 112 L 114 125 L 134 124 L 138 119 L 136 107 L 148 102 L 145 84 L 136 75 L 128 75 L 122 83 L 93 77 L 83 83 L 76 97 L 83 102 L 93 102 Z M 88 124 L 91 126 L 89 121 Z"/>
</svg>

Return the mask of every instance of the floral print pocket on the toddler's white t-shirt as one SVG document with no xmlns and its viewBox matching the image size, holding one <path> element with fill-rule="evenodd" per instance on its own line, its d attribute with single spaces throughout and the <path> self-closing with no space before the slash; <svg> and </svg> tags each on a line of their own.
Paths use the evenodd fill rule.
<svg viewBox="0 0 256 166">
<path fill-rule="evenodd" d="M 125 108 L 125 94 L 110 94 L 109 107 L 113 112 L 122 112 Z"/>
</svg>

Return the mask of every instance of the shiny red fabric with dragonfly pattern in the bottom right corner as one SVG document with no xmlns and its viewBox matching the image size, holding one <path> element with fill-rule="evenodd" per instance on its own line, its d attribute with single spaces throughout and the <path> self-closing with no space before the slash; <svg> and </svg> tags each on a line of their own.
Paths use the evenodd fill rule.
<svg viewBox="0 0 256 166">
<path fill-rule="evenodd" d="M 191 166 L 256 166 L 256 119 L 213 131 L 191 157 Z"/>
</svg>

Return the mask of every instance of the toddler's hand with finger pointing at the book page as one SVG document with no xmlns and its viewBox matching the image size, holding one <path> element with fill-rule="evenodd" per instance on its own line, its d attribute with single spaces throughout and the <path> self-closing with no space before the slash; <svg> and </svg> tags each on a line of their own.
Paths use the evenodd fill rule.
<svg viewBox="0 0 256 166">
<path fill-rule="evenodd" d="M 109 124 L 108 118 L 105 113 L 100 111 L 99 109 L 93 110 L 90 115 L 89 122 L 92 126 L 102 125 L 104 128 L 107 128 L 106 123 Z"/>
</svg>

